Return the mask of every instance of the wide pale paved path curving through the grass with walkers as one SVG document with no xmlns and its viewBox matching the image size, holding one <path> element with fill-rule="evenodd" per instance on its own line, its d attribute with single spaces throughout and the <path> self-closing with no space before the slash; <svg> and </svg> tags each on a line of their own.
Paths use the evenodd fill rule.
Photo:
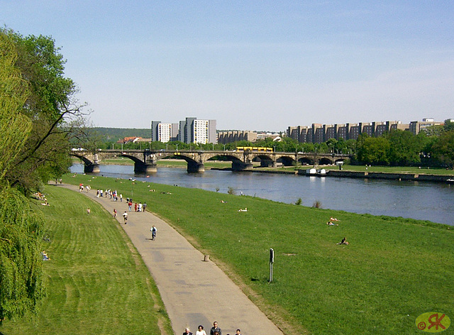
<svg viewBox="0 0 454 335">
<path fill-rule="evenodd" d="M 77 191 L 74 185 L 64 185 Z M 189 326 L 195 334 L 202 324 L 209 335 L 214 321 L 222 334 L 283 335 L 265 314 L 211 261 L 196 250 L 175 229 L 150 212 L 128 212 L 128 224 L 121 214 L 128 210 L 125 201 L 96 198 L 96 190 L 83 194 L 99 202 L 117 219 L 155 279 L 162 301 L 172 322 L 174 333 L 182 334 Z M 150 228 L 155 225 L 157 236 L 151 241 Z"/>
</svg>

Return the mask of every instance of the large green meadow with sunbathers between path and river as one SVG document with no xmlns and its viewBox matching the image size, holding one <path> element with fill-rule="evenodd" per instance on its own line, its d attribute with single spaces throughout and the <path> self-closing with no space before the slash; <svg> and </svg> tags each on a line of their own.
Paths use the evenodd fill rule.
<svg viewBox="0 0 454 335">
<path fill-rule="evenodd" d="M 128 180 L 78 175 L 65 182 L 131 193 Z M 225 264 L 287 334 L 419 334 L 415 320 L 423 312 L 454 319 L 450 226 L 147 182 L 132 187 L 134 201 L 146 201 Z M 238 212 L 244 207 L 248 212 Z M 341 220 L 339 226 L 326 225 L 330 216 Z M 336 245 L 344 236 L 350 245 Z M 270 248 L 276 255 L 272 283 Z"/>
</svg>

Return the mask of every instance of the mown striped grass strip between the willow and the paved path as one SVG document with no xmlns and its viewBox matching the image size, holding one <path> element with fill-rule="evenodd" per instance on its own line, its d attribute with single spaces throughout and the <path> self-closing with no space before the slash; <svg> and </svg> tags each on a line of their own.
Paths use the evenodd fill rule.
<svg viewBox="0 0 454 335">
<path fill-rule="evenodd" d="M 6 321 L 4 334 L 172 334 L 157 287 L 109 213 L 82 194 L 48 186 L 45 297 L 37 317 Z M 87 214 L 87 208 L 91 213 Z M 159 326 L 158 326 L 159 324 Z M 160 331 L 162 328 L 162 333 Z"/>
</svg>

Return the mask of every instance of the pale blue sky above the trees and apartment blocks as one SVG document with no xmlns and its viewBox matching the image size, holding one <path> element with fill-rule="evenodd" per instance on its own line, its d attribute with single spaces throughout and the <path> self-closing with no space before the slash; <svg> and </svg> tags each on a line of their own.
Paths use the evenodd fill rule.
<svg viewBox="0 0 454 335">
<path fill-rule="evenodd" d="M 0 0 L 0 25 L 51 36 L 115 128 L 454 118 L 453 17 L 452 0 Z"/>
</svg>

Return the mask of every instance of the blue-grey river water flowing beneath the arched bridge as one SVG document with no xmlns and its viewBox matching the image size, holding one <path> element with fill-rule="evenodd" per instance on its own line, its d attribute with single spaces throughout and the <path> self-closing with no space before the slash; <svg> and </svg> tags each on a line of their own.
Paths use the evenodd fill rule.
<svg viewBox="0 0 454 335">
<path fill-rule="evenodd" d="M 206 170 L 189 174 L 186 169 L 158 167 L 150 177 L 134 175 L 131 165 L 101 165 L 100 175 L 157 182 L 165 185 L 199 188 L 292 203 L 301 198 L 302 205 L 319 201 L 322 208 L 373 215 L 402 216 L 454 226 L 454 185 L 431 182 L 362 180 L 339 177 L 306 177 L 259 172 Z M 82 164 L 72 172 L 83 173 Z"/>
</svg>

